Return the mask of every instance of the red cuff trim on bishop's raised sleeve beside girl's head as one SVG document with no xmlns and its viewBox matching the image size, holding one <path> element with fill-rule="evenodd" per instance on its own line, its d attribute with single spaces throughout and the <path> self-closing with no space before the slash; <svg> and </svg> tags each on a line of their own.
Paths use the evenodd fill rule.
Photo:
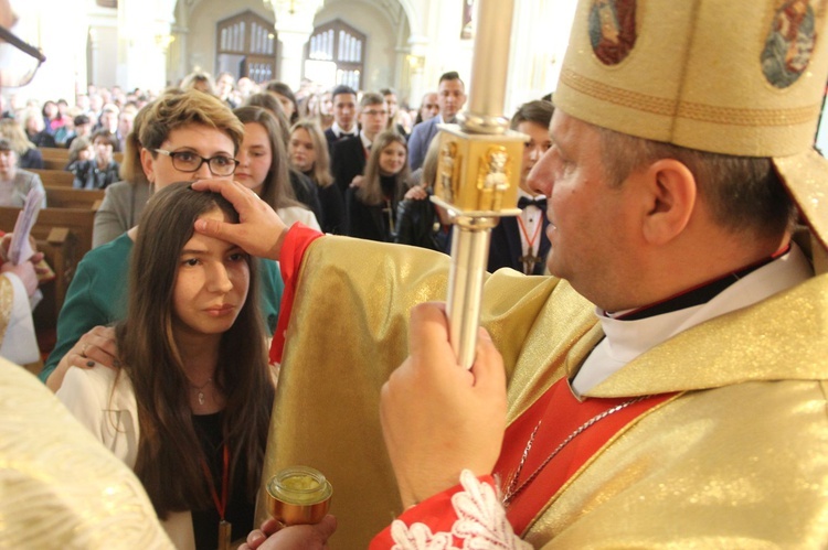
<svg viewBox="0 0 828 550">
<path fill-rule="evenodd" d="M 299 283 L 301 260 L 310 244 L 321 236 L 321 233 L 299 222 L 295 223 L 285 235 L 285 242 L 282 244 L 282 251 L 279 252 L 279 269 L 282 270 L 282 280 L 285 282 L 285 290 L 279 304 L 279 320 L 276 323 L 276 332 L 273 334 L 273 343 L 270 344 L 270 363 L 282 363 L 282 355 L 285 352 L 285 334 L 290 321 L 290 312 L 294 309 L 296 285 Z"/>
</svg>

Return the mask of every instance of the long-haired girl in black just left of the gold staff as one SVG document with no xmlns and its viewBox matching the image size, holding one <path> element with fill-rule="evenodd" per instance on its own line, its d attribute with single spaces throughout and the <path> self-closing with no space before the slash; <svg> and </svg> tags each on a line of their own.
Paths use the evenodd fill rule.
<svg viewBox="0 0 828 550">
<path fill-rule="evenodd" d="M 405 138 L 393 130 L 376 136 L 364 177 L 346 193 L 348 235 L 394 241 L 396 205 L 408 188 L 407 159 Z"/>
</svg>

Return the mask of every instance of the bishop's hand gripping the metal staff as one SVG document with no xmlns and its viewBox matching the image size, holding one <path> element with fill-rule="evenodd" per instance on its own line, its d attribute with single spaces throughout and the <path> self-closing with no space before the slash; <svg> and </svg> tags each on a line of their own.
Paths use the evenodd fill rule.
<svg viewBox="0 0 828 550">
<path fill-rule="evenodd" d="M 506 430 L 503 362 L 480 328 L 470 370 L 448 342 L 442 305 L 412 310 L 410 356 L 382 388 L 380 418 L 405 507 L 456 485 L 464 468 L 490 474 Z"/>
</svg>

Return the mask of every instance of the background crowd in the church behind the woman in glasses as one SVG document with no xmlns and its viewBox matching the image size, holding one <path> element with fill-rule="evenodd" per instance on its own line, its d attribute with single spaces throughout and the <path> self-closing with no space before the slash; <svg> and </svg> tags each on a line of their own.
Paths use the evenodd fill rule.
<svg viewBox="0 0 828 550">
<path fill-rule="evenodd" d="M 227 73 L 213 79 L 195 72 L 164 94 L 172 90 L 198 90 L 235 109 L 250 143 L 240 150 L 234 175 L 258 190 L 286 220 L 330 234 L 449 251 L 449 224 L 434 223 L 435 216 L 445 222 L 445 213 L 431 206 L 425 209 L 433 215 L 420 212 L 431 204 L 423 201 L 434 184 L 434 174 L 431 181 L 424 179 L 421 164 L 436 125 L 454 122 L 465 104 L 465 85 L 456 72 L 443 75 L 438 89 L 425 94 L 413 112 L 391 88 L 321 90 L 305 80 L 293 90 L 275 80 L 236 82 Z M 149 197 L 141 161 L 146 145 L 138 136 L 144 110 L 157 99 L 150 91 L 126 93 L 118 86 L 89 86 L 72 106 L 63 99 L 20 106 L 13 95 L 0 134 L 13 144 L 17 169 L 43 169 L 41 148 L 66 148 L 65 170 L 74 175 L 74 187 L 107 190 L 95 220 L 97 247 L 132 227 Z M 371 154 L 380 137 L 379 150 Z M 177 160 L 181 162 L 181 155 Z M 36 173 L 23 174 L 40 184 Z M 410 207 L 413 202 L 420 208 Z M 520 234 L 511 233 L 520 248 Z M 537 238 L 543 240 L 542 235 Z M 524 246 L 527 254 L 516 254 L 514 261 L 505 265 L 523 270 L 517 258 L 532 256 L 532 244 Z"/>
</svg>

